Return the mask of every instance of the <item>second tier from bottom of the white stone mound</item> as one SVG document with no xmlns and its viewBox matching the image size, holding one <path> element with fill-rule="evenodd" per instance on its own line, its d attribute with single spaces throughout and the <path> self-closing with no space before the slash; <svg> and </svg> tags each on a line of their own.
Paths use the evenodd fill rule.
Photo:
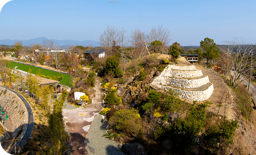
<svg viewBox="0 0 256 155">
<path fill-rule="evenodd" d="M 199 79 L 178 79 L 178 78 L 167 78 L 159 77 L 157 80 L 152 82 L 153 85 L 160 87 L 160 85 L 170 85 L 173 87 L 180 88 L 196 88 L 205 85 L 209 82 L 208 76 Z"/>
</svg>

